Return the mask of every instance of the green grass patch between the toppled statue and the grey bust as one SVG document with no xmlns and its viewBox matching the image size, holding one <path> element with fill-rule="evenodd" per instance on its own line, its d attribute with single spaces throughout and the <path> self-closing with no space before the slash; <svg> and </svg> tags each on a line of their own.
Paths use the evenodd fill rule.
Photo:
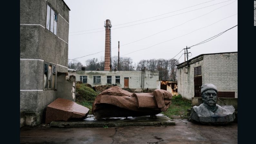
<svg viewBox="0 0 256 144">
<path fill-rule="evenodd" d="M 191 101 L 182 98 L 181 95 L 175 95 L 172 97 L 172 104 L 166 111 L 161 112 L 162 114 L 173 119 L 174 115 L 179 115 L 182 118 L 187 118 L 187 109 L 191 108 Z"/>
</svg>

